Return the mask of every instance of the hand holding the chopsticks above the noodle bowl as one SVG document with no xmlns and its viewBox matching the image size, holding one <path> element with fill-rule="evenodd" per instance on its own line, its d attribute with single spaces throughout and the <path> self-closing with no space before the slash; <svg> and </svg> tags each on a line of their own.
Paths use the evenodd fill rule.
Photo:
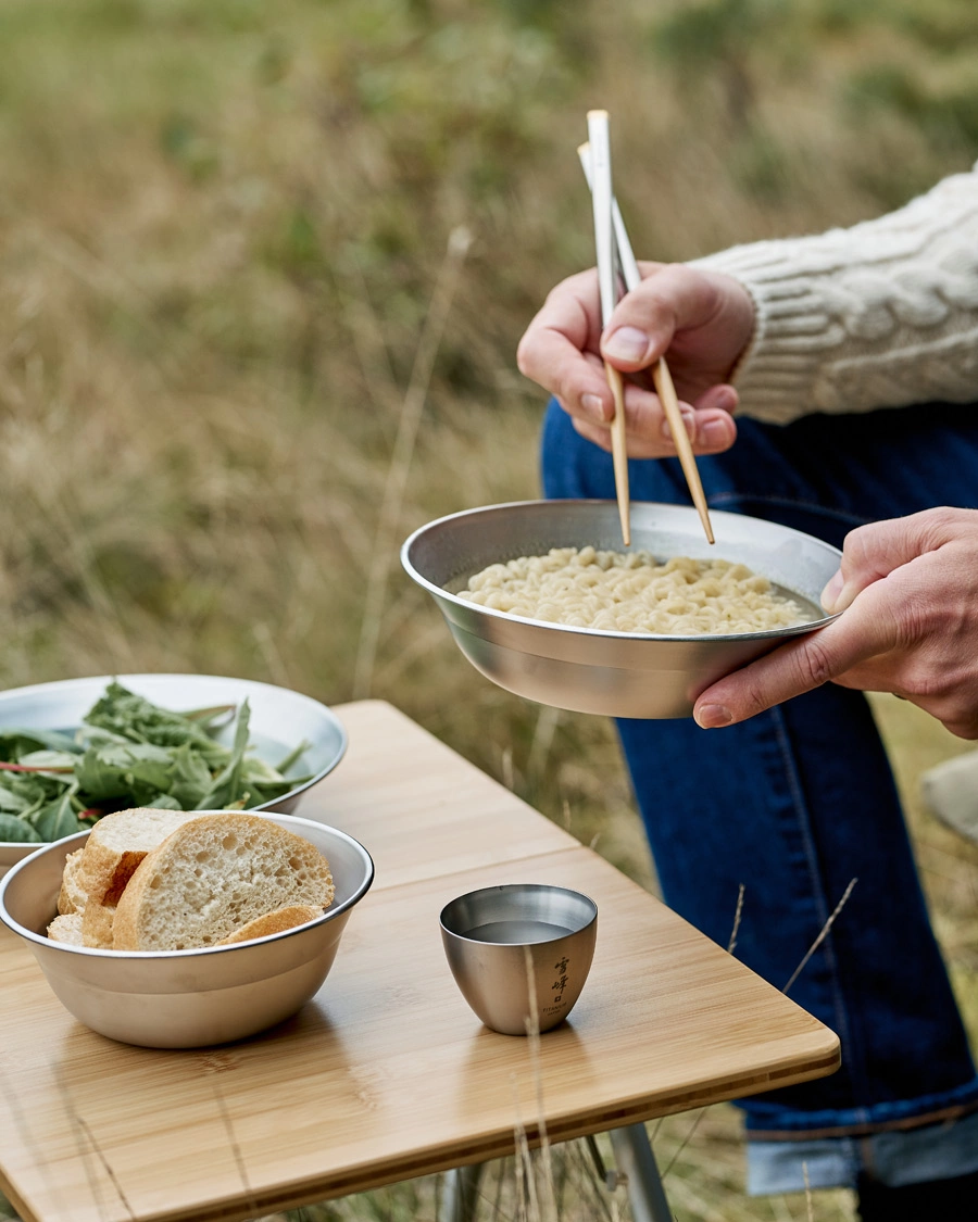
<svg viewBox="0 0 978 1222">
<path fill-rule="evenodd" d="M 685 264 L 644 263 L 642 275 L 604 335 L 597 271 L 562 281 L 520 341 L 517 364 L 556 396 L 582 436 L 610 450 L 615 402 L 601 358 L 634 374 L 665 354 L 693 450 L 720 453 L 737 435 L 727 378 L 751 340 L 753 301 L 731 276 Z M 627 378 L 625 419 L 631 457 L 675 455 L 659 397 Z"/>
</svg>

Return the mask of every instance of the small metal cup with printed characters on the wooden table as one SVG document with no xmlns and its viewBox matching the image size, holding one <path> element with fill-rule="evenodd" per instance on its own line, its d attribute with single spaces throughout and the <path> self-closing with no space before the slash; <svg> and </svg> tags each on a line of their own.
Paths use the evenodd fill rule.
<svg viewBox="0 0 978 1222">
<path fill-rule="evenodd" d="M 534 925 L 566 932 L 546 941 L 485 941 L 480 931 L 488 926 L 501 936 L 496 934 L 500 925 L 523 938 Z M 540 1031 L 564 1022 L 584 987 L 597 937 L 594 901 L 548 884 L 484 887 L 441 910 L 441 941 L 451 974 L 477 1017 L 502 1035 L 527 1034 L 534 997 Z"/>
</svg>

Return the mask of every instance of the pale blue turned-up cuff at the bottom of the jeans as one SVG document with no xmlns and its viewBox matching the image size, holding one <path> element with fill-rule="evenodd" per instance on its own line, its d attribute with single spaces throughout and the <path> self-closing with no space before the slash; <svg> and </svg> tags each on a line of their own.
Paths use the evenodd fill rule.
<svg viewBox="0 0 978 1222">
<path fill-rule="evenodd" d="M 978 1171 L 978 1112 L 943 1124 L 864 1138 L 748 1141 L 752 1196 L 808 1188 L 856 1188 L 866 1172 L 889 1188 Z"/>
</svg>

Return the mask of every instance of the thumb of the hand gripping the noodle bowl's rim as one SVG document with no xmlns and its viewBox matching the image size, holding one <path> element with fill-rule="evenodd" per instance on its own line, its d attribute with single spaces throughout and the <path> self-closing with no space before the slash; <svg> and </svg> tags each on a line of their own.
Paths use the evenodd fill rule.
<svg viewBox="0 0 978 1222">
<path fill-rule="evenodd" d="M 822 591 L 823 607 L 837 615 L 874 582 L 914 557 L 935 551 L 950 538 L 946 525 L 945 511 L 924 510 L 851 530 L 842 544 L 839 572 Z"/>
</svg>

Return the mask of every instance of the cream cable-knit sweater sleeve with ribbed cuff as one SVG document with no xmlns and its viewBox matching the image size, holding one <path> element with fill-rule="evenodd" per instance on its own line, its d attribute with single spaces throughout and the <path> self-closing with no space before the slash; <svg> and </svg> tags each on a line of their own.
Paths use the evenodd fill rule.
<svg viewBox="0 0 978 1222">
<path fill-rule="evenodd" d="M 978 165 L 847 230 L 732 247 L 757 321 L 735 385 L 774 424 L 941 400 L 978 403 Z"/>
</svg>

